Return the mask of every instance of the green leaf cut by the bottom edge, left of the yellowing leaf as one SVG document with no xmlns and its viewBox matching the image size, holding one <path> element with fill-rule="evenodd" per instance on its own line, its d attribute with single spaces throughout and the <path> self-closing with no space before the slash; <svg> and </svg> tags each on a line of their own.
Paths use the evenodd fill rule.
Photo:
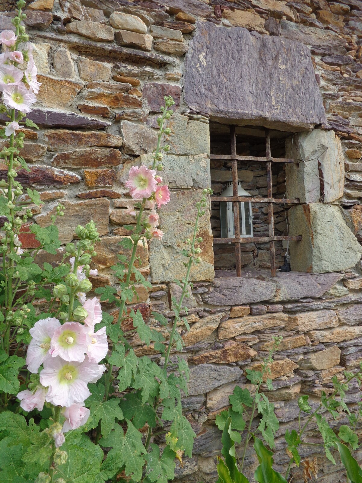
<svg viewBox="0 0 362 483">
<path fill-rule="evenodd" d="M 146 474 L 150 481 L 167 483 L 175 478 L 175 453 L 168 447 L 160 456 L 160 448 L 152 443 L 151 451 L 146 456 Z"/>
</svg>

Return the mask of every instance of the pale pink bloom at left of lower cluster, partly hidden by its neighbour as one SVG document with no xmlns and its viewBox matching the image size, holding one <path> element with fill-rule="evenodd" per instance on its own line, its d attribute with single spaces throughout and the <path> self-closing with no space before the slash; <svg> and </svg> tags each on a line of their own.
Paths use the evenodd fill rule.
<svg viewBox="0 0 362 483">
<path fill-rule="evenodd" d="M 36 374 L 42 363 L 47 358 L 51 358 L 49 354 L 50 340 L 58 327 L 60 327 L 58 319 L 48 317 L 38 320 L 29 330 L 32 336 L 27 352 L 27 366 L 30 372 Z"/>
</svg>

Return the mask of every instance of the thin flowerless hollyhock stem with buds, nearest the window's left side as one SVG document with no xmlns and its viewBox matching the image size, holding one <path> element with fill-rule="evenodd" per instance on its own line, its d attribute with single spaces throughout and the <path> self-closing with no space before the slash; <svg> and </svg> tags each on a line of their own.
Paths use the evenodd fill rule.
<svg viewBox="0 0 362 483">
<path fill-rule="evenodd" d="M 190 252 L 189 253 L 192 254 L 192 255 L 195 253 L 194 251 L 195 251 L 196 235 L 197 235 L 197 230 L 198 230 L 198 222 L 199 222 L 200 216 L 202 216 L 201 210 L 202 210 L 202 205 L 200 203 L 199 206 L 198 206 L 198 209 L 197 209 L 197 214 L 196 214 L 194 234 L 193 234 L 193 238 L 192 238 L 192 241 L 191 241 L 191 244 L 190 244 Z M 181 312 L 181 309 L 182 309 L 182 302 L 183 302 L 183 299 L 186 296 L 186 293 L 187 293 L 188 287 L 189 287 L 190 271 L 191 271 L 193 261 L 194 261 L 193 256 L 190 256 L 189 263 L 187 265 L 186 276 L 185 276 L 185 279 L 184 279 L 183 285 L 182 285 L 181 297 L 180 297 L 179 303 L 174 307 L 175 318 L 174 318 L 174 321 L 173 321 L 173 325 L 172 325 L 172 329 L 171 329 L 171 333 L 170 333 L 170 340 L 168 342 L 168 347 L 167 347 L 167 352 L 166 352 L 165 362 L 164 362 L 164 372 L 165 372 L 166 377 L 167 377 L 167 365 L 168 365 L 168 360 L 169 360 L 171 349 L 172 349 L 173 339 L 175 337 L 176 327 L 177 327 L 178 323 L 180 322 L 180 312 Z M 153 404 L 154 411 L 156 411 L 156 409 L 158 407 L 158 398 L 159 398 L 159 390 L 158 390 L 158 394 L 155 397 L 154 404 Z M 148 426 L 146 441 L 145 441 L 145 445 L 144 445 L 144 447 L 146 448 L 146 451 L 148 449 L 148 446 L 150 444 L 152 436 L 153 436 L 152 426 Z"/>
</svg>

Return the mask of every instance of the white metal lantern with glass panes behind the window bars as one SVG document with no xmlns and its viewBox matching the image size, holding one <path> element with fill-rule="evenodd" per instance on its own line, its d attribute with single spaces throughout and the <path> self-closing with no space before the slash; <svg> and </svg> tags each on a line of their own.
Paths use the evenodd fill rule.
<svg viewBox="0 0 362 483">
<path fill-rule="evenodd" d="M 251 194 L 241 187 L 241 182 L 237 182 L 238 196 L 251 197 Z M 227 188 L 220 195 L 223 197 L 233 195 L 233 183 L 230 182 Z M 239 203 L 240 217 L 240 237 L 252 237 L 252 212 L 251 202 Z M 220 201 L 220 221 L 221 221 L 221 238 L 235 238 L 234 212 L 233 203 L 229 201 Z"/>
</svg>

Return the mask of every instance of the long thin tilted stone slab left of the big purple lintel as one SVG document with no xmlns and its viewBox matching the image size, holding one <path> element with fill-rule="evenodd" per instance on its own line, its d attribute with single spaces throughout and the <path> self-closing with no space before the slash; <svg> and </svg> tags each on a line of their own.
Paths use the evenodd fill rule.
<svg viewBox="0 0 362 483">
<path fill-rule="evenodd" d="M 39 39 L 51 40 L 61 44 L 67 43 L 74 47 L 80 56 L 89 55 L 91 52 L 96 57 L 94 60 L 103 60 L 109 62 L 110 59 L 126 60 L 130 62 L 151 62 L 157 66 L 172 65 L 176 66 L 177 60 L 164 56 L 162 54 L 155 54 L 153 52 L 144 52 L 143 50 L 132 49 L 129 47 L 121 47 L 113 43 L 95 42 L 92 40 L 81 39 L 77 36 L 60 35 L 54 32 L 37 32 L 32 30 L 30 32 L 30 40 L 36 41 Z"/>
</svg>

